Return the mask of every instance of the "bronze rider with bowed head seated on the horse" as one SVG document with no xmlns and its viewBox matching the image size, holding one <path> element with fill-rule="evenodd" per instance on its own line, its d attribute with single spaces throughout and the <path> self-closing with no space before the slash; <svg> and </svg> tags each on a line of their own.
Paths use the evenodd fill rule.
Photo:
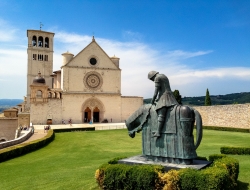
<svg viewBox="0 0 250 190">
<path fill-rule="evenodd" d="M 150 71 L 148 73 L 148 79 L 155 82 L 155 92 L 151 104 L 153 105 L 156 103 L 155 111 L 158 115 L 158 126 L 157 131 L 153 134 L 153 137 L 158 138 L 161 136 L 161 130 L 165 122 L 167 109 L 171 106 L 179 104 L 171 91 L 169 80 L 164 74 L 159 74 L 159 72 L 156 71 Z"/>
</svg>

